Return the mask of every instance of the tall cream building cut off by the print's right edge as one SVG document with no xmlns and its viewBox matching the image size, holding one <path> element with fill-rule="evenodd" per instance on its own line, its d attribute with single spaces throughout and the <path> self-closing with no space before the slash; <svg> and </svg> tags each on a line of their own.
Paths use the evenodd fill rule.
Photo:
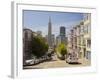
<svg viewBox="0 0 100 80">
<path fill-rule="evenodd" d="M 91 14 L 84 14 L 85 58 L 91 59 Z"/>
</svg>

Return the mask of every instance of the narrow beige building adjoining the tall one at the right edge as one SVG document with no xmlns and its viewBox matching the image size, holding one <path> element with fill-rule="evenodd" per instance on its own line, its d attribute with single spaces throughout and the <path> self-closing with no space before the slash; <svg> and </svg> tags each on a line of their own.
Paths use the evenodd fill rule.
<svg viewBox="0 0 100 80">
<path fill-rule="evenodd" d="M 79 58 L 85 57 L 86 47 L 84 39 L 84 22 L 77 25 L 77 51 Z"/>
</svg>

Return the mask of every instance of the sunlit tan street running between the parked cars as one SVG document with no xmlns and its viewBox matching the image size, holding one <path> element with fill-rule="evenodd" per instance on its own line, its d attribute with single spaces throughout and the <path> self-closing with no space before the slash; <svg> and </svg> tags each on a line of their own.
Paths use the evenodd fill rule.
<svg viewBox="0 0 100 80">
<path fill-rule="evenodd" d="M 89 66 L 90 61 L 86 59 L 80 59 L 79 64 L 68 64 L 65 60 L 59 60 L 56 55 L 52 56 L 52 60 L 39 63 L 32 66 L 24 66 L 24 69 L 46 69 L 46 68 L 62 68 L 62 67 L 81 67 Z"/>
</svg>

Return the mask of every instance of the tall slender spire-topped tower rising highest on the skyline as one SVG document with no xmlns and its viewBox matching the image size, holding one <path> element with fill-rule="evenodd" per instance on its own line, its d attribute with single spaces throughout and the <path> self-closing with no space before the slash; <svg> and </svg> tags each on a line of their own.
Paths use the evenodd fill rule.
<svg viewBox="0 0 100 80">
<path fill-rule="evenodd" d="M 52 47 L 52 23 L 51 23 L 50 17 L 49 17 L 49 23 L 48 23 L 48 45 Z"/>
</svg>

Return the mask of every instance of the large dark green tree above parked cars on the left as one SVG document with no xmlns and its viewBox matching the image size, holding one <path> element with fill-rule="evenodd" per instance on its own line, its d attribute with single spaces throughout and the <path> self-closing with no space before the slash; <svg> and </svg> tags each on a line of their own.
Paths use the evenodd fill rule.
<svg viewBox="0 0 100 80">
<path fill-rule="evenodd" d="M 34 36 L 32 39 L 32 54 L 41 57 L 48 51 L 48 45 L 43 37 Z"/>
</svg>

